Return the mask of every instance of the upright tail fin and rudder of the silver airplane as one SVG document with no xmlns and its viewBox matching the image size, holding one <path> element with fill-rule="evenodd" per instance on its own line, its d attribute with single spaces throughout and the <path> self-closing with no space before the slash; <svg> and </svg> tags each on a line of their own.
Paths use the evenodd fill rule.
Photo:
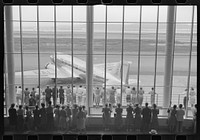
<svg viewBox="0 0 200 140">
<path fill-rule="evenodd" d="M 124 84 L 128 84 L 129 81 L 129 70 L 130 70 L 130 64 L 131 62 L 124 62 L 123 63 L 123 75 L 122 80 Z M 121 61 L 116 64 L 116 66 L 111 71 L 111 74 L 115 76 L 118 79 L 121 79 L 121 72 L 122 72 L 122 64 Z"/>
</svg>

